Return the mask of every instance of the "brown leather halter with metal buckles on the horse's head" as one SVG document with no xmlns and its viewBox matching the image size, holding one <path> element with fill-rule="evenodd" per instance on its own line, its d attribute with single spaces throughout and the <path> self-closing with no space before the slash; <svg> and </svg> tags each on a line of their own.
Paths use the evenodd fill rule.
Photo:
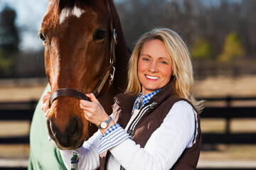
<svg viewBox="0 0 256 170">
<path fill-rule="evenodd" d="M 105 85 L 108 77 L 110 77 L 110 85 L 112 84 L 112 81 L 114 80 L 114 62 L 115 62 L 115 45 L 117 45 L 117 33 L 115 32 L 115 29 L 113 28 L 113 22 L 112 22 L 112 15 L 111 15 L 111 10 L 110 10 L 110 3 L 107 1 L 107 8 L 110 11 L 110 30 L 112 33 L 112 38 L 110 42 L 110 66 L 109 69 L 107 70 L 107 73 L 105 76 L 100 80 L 100 82 L 97 84 L 96 89 L 92 92 L 92 94 L 95 95 L 97 98 Z M 61 96 L 71 96 L 83 100 L 90 101 L 90 98 L 88 98 L 85 94 L 82 92 L 75 90 L 75 89 L 57 89 L 53 91 L 53 93 L 50 95 L 50 100 L 49 100 L 49 107 L 52 105 L 53 101 L 55 101 L 56 98 L 61 97 Z"/>
</svg>

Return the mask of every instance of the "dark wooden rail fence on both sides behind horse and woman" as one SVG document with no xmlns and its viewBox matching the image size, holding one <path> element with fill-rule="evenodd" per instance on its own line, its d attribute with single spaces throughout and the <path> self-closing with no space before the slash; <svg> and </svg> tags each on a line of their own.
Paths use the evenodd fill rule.
<svg viewBox="0 0 256 170">
<path fill-rule="evenodd" d="M 248 144 L 256 145 L 256 132 L 232 133 L 230 132 L 230 120 L 233 118 L 256 118 L 255 106 L 231 106 L 233 101 L 255 101 L 256 97 L 248 98 L 206 98 L 206 101 L 224 101 L 225 106 L 206 107 L 201 113 L 202 119 L 221 118 L 225 119 L 224 133 L 203 133 L 203 145 L 205 144 Z M 1 102 L 0 120 L 32 120 L 37 101 L 30 102 Z M 29 136 L 23 137 L 0 137 L 1 144 L 28 144 Z M 0 167 L 0 170 L 4 167 Z M 5 168 L 8 169 L 8 168 Z M 15 168 L 14 168 L 15 169 Z M 18 169 L 18 168 L 17 168 Z M 21 170 L 20 168 L 19 170 Z M 199 170 L 199 169 L 198 169 Z M 200 169 L 203 170 L 203 169 Z M 210 170 L 210 169 L 207 169 Z M 213 169 L 211 169 L 213 170 Z M 218 169 L 220 170 L 220 169 Z M 225 169 L 229 170 L 229 169 Z M 231 169 L 230 169 L 231 170 Z M 234 169 L 235 170 L 235 169 Z M 249 170 L 249 169 L 247 169 Z"/>
</svg>

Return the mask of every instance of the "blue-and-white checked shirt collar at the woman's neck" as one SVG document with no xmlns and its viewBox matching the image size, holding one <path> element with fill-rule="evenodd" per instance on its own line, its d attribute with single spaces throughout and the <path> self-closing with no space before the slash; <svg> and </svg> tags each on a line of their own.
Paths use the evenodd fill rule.
<svg viewBox="0 0 256 170">
<path fill-rule="evenodd" d="M 155 95 L 157 94 L 161 89 L 158 89 L 154 92 L 152 92 L 151 94 L 145 94 L 144 96 L 142 96 L 142 93 L 139 94 L 139 96 L 137 96 L 135 102 L 134 102 L 134 106 L 132 108 L 132 113 L 134 111 L 134 109 L 140 109 L 143 108 L 145 106 L 146 103 L 149 102 L 149 100 Z"/>
</svg>

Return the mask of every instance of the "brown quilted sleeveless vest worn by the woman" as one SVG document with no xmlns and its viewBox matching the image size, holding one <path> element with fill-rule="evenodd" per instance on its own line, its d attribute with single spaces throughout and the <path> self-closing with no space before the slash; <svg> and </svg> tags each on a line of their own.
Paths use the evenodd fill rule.
<svg viewBox="0 0 256 170">
<path fill-rule="evenodd" d="M 148 103 L 143 108 L 146 108 L 146 112 L 139 120 L 134 128 L 132 140 L 139 144 L 141 147 L 146 145 L 151 134 L 160 127 L 163 123 L 164 118 L 171 110 L 174 103 L 177 101 L 187 101 L 184 98 L 178 98 L 172 96 L 173 92 L 171 90 L 171 84 L 164 86 L 159 93 L 154 95 Z M 131 118 L 132 107 L 136 97 L 129 96 L 128 94 L 119 94 L 114 98 L 113 113 L 115 122 L 119 123 L 122 128 L 125 128 Z M 152 104 L 153 103 L 153 104 Z M 191 104 L 191 103 L 190 103 Z M 193 106 L 191 104 L 191 106 Z M 143 111 L 143 108 L 141 111 Z M 194 108 L 195 109 L 195 108 Z M 196 111 L 196 109 L 195 109 Z M 177 160 L 176 164 L 171 168 L 173 170 L 192 170 L 196 169 L 198 163 L 200 149 L 201 149 L 201 128 L 199 115 L 198 118 L 198 135 L 196 136 L 196 142 L 192 147 L 185 149 L 181 154 L 181 157 Z M 135 118 L 136 119 L 136 118 Z M 131 128 L 132 123 L 129 129 Z M 130 134 L 131 134 L 130 133 Z M 105 169 L 107 160 L 107 152 L 100 154 L 100 170 Z"/>
</svg>

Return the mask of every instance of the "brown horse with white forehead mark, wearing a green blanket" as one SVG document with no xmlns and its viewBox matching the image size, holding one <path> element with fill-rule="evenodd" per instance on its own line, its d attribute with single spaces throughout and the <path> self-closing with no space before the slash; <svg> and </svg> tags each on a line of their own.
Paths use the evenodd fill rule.
<svg viewBox="0 0 256 170">
<path fill-rule="evenodd" d="M 93 92 L 112 113 L 114 96 L 127 84 L 130 53 L 112 0 L 49 0 L 38 35 L 49 80 L 43 94 L 52 94 L 48 118 L 42 97 L 33 115 L 28 169 L 65 169 L 57 147 L 77 149 L 97 130 L 85 119 L 80 98 Z"/>
</svg>

